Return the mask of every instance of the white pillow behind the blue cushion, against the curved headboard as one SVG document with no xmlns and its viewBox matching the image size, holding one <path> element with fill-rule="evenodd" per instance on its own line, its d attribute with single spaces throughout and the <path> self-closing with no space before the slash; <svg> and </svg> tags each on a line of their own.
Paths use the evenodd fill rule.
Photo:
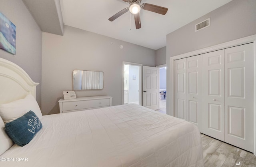
<svg viewBox="0 0 256 167">
<path fill-rule="evenodd" d="M 27 95 L 24 99 L 12 101 L 0 105 L 0 116 L 4 123 L 14 121 L 28 111 L 33 111 L 41 119 L 42 113 L 33 95 Z"/>
</svg>

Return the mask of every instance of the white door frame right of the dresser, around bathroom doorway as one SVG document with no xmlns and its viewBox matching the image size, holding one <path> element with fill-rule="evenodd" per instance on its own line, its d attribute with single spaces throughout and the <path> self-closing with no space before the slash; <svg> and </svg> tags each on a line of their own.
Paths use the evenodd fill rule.
<svg viewBox="0 0 256 167">
<path fill-rule="evenodd" d="M 139 86 L 139 91 L 140 91 L 140 99 L 139 99 L 139 105 L 142 105 L 142 82 L 141 82 L 141 78 L 142 78 L 142 64 L 138 64 L 138 63 L 131 63 L 131 62 L 123 62 L 123 77 L 122 77 L 122 104 L 124 104 L 124 65 L 132 65 L 132 66 L 139 66 L 140 67 L 140 86 Z"/>
</svg>

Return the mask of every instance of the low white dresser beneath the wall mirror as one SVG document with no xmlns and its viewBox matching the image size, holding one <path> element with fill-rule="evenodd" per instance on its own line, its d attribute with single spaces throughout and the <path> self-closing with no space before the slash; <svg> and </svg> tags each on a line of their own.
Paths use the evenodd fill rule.
<svg viewBox="0 0 256 167">
<path fill-rule="evenodd" d="M 108 95 L 77 97 L 76 99 L 60 99 L 60 113 L 82 111 L 112 106 L 112 97 Z"/>
</svg>

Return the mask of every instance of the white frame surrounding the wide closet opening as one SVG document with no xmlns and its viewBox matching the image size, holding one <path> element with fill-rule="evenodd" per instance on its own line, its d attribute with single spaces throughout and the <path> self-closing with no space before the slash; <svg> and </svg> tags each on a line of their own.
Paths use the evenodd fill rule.
<svg viewBox="0 0 256 167">
<path fill-rule="evenodd" d="M 230 42 L 225 42 L 222 44 L 218 44 L 218 45 L 214 45 L 208 48 L 203 48 L 200 50 L 195 50 L 192 52 L 188 52 L 185 54 L 180 54 L 178 56 L 173 56 L 170 57 L 170 68 L 168 69 L 170 71 L 170 80 L 169 80 L 169 85 L 168 85 L 168 96 L 170 98 L 167 98 L 167 103 L 170 103 L 170 110 L 166 111 L 166 114 L 168 115 L 174 115 L 174 83 L 172 82 L 174 79 L 174 60 L 178 60 L 178 59 L 182 59 L 182 58 L 187 58 L 190 56 L 196 56 L 199 54 L 205 54 L 208 52 L 213 52 L 216 50 L 221 50 L 221 49 L 226 49 L 226 48 L 230 48 L 230 47 L 234 47 L 234 46 L 238 46 L 238 45 L 242 45 L 242 44 L 247 44 L 250 42 L 254 42 L 254 155 L 256 156 L 256 34 L 252 35 L 252 36 L 248 36 L 248 37 L 244 37 L 244 38 L 240 38 L 237 40 L 232 40 Z"/>
</svg>

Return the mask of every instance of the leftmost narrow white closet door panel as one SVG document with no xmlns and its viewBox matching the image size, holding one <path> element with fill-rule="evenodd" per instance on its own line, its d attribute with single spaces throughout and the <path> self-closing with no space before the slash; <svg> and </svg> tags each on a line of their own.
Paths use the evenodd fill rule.
<svg viewBox="0 0 256 167">
<path fill-rule="evenodd" d="M 174 116 L 186 120 L 186 58 L 174 61 Z"/>
</svg>

